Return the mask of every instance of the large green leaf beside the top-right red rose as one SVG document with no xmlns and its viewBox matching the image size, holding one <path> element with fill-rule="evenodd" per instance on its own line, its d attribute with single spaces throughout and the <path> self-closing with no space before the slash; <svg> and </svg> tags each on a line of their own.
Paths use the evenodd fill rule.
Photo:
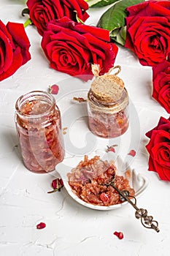
<svg viewBox="0 0 170 256">
<path fill-rule="evenodd" d="M 121 28 L 125 26 L 125 17 L 127 16 L 127 12 L 125 9 L 135 4 L 142 3 L 144 0 L 120 0 L 112 7 L 109 8 L 104 14 L 101 16 L 98 21 L 97 26 L 102 29 L 108 29 L 109 31 L 113 31 L 115 29 Z"/>
</svg>

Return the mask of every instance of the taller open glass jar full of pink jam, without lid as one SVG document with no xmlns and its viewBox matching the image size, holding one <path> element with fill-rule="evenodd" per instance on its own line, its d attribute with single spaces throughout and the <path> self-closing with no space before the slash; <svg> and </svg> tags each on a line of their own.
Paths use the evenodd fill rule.
<svg viewBox="0 0 170 256">
<path fill-rule="evenodd" d="M 24 165 L 35 173 L 55 170 L 65 154 L 55 98 L 45 91 L 31 91 L 19 97 L 15 110 Z"/>
</svg>

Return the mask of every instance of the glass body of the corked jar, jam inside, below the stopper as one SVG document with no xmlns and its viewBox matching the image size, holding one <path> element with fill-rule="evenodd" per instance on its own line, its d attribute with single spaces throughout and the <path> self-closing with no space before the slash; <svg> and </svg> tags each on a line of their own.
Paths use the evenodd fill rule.
<svg viewBox="0 0 170 256">
<path fill-rule="evenodd" d="M 101 138 L 116 138 L 126 132 L 129 125 L 128 105 L 124 108 L 117 108 L 116 105 L 96 102 L 91 91 L 88 93 L 88 126 L 93 134 Z"/>
</svg>

